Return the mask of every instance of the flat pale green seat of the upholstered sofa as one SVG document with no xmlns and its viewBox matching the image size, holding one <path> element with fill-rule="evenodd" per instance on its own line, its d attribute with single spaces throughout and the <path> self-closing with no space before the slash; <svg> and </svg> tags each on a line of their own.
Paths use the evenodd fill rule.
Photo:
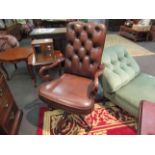
<svg viewBox="0 0 155 155">
<path fill-rule="evenodd" d="M 130 113 L 137 116 L 141 100 L 155 101 L 155 77 L 140 73 L 135 79 L 116 91 L 114 100 L 117 103 L 124 102 L 121 107 L 127 111 L 129 111 L 127 107 L 131 107 Z"/>
</svg>

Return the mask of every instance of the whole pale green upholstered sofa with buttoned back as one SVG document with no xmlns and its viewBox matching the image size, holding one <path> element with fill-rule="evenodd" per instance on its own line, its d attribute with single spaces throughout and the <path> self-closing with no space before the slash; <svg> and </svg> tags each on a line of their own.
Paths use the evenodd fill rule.
<svg viewBox="0 0 155 155">
<path fill-rule="evenodd" d="M 106 98 L 135 117 L 141 100 L 155 101 L 155 77 L 142 73 L 125 47 L 104 49 L 102 63 L 101 85 Z"/>
</svg>

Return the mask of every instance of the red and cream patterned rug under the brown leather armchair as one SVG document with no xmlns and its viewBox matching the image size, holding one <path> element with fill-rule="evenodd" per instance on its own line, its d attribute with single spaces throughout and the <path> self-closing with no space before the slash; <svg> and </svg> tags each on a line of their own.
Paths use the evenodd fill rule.
<svg viewBox="0 0 155 155">
<path fill-rule="evenodd" d="M 63 116 L 63 110 L 48 111 L 40 109 L 38 122 L 38 135 L 54 135 L 59 119 Z M 89 132 L 79 127 L 75 120 L 77 115 L 71 114 L 69 121 L 63 124 L 66 135 L 134 135 L 136 134 L 136 120 L 118 106 L 107 102 L 105 105 L 96 103 L 92 113 L 85 116 L 85 120 L 92 124 Z"/>
</svg>

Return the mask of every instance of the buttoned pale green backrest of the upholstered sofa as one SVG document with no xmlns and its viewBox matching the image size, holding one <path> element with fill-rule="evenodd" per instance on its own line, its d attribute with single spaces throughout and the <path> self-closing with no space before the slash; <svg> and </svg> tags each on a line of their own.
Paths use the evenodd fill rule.
<svg viewBox="0 0 155 155">
<path fill-rule="evenodd" d="M 102 63 L 105 65 L 103 79 L 108 85 L 107 92 L 115 92 L 140 73 L 136 61 L 121 45 L 106 48 L 102 55 Z"/>
</svg>

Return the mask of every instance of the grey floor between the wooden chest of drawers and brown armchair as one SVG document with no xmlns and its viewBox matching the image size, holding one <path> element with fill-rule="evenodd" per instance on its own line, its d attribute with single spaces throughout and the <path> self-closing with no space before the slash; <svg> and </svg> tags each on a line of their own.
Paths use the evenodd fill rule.
<svg viewBox="0 0 155 155">
<path fill-rule="evenodd" d="M 13 67 L 9 65 L 7 69 L 10 76 L 13 74 L 8 84 L 16 103 L 24 112 L 19 134 L 36 134 L 38 111 L 41 106 L 46 106 L 46 104 L 39 100 L 37 88 L 33 86 L 25 64 L 21 62 L 17 65 L 18 70 L 14 74 Z"/>
</svg>

